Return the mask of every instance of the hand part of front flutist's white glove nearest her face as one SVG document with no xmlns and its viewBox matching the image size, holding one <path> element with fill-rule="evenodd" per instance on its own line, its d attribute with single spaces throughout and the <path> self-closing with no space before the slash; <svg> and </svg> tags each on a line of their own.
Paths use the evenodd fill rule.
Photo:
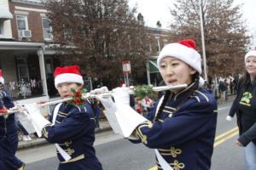
<svg viewBox="0 0 256 170">
<path fill-rule="evenodd" d="M 114 88 L 113 99 L 116 105 L 130 105 L 129 88 Z"/>
</svg>

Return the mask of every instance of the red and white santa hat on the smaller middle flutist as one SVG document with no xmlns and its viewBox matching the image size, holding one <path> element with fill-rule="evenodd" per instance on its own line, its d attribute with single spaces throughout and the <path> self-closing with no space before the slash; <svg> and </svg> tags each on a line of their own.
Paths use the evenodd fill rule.
<svg viewBox="0 0 256 170">
<path fill-rule="evenodd" d="M 84 84 L 78 65 L 55 68 L 55 88 L 62 82 L 78 82 Z"/>
</svg>

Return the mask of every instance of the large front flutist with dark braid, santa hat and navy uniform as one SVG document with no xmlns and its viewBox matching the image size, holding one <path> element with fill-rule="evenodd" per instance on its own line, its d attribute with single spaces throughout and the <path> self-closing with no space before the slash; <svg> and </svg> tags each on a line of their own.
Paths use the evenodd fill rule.
<svg viewBox="0 0 256 170">
<path fill-rule="evenodd" d="M 155 149 L 158 169 L 210 169 L 217 102 L 212 94 L 201 88 L 201 55 L 195 50 L 195 42 L 183 40 L 167 44 L 161 50 L 157 64 L 166 85 L 186 83 L 188 87 L 166 91 L 146 117 L 148 120 L 134 129 L 132 137 L 137 140 L 132 141 Z M 120 96 L 129 95 L 125 95 L 125 89 L 113 91 L 115 104 L 109 107 L 117 108 L 113 111 L 121 115 L 124 109 L 119 109 L 119 103 L 129 99 L 121 99 Z M 106 103 L 103 98 L 99 99 Z M 125 103 L 123 105 L 127 105 Z M 121 124 L 119 126 L 122 127 Z"/>
</svg>

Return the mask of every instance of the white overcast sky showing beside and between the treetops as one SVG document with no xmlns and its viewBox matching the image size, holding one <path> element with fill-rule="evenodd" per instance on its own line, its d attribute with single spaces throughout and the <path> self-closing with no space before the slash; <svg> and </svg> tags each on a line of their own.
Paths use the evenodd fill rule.
<svg viewBox="0 0 256 170">
<path fill-rule="evenodd" d="M 144 16 L 146 26 L 156 26 L 160 20 L 162 27 L 167 27 L 171 22 L 169 8 L 172 7 L 172 0 L 129 0 L 133 7 L 137 3 L 138 12 Z M 248 30 L 254 35 L 254 46 L 256 46 L 256 0 L 235 0 L 235 3 L 243 3 L 242 14 L 247 20 Z"/>
</svg>

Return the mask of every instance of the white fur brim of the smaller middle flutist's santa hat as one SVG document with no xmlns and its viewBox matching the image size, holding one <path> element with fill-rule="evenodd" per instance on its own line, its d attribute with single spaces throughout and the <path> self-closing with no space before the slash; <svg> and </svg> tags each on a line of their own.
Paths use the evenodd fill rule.
<svg viewBox="0 0 256 170">
<path fill-rule="evenodd" d="M 58 84 L 63 82 L 77 82 L 84 85 L 83 77 L 73 73 L 63 73 L 55 77 L 55 88 L 57 88 Z"/>
</svg>

